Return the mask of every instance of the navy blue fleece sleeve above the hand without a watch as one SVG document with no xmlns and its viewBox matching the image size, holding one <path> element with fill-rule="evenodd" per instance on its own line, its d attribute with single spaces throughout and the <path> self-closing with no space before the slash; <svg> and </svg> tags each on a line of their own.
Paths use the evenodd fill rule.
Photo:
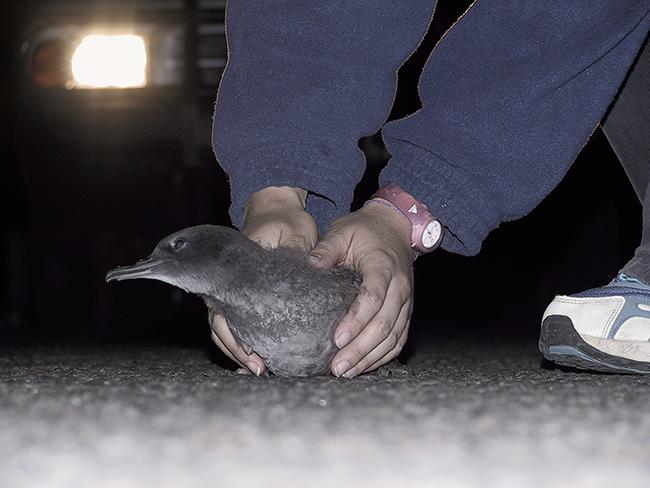
<svg viewBox="0 0 650 488">
<path fill-rule="evenodd" d="M 230 179 L 230 215 L 251 193 L 308 190 L 321 231 L 348 212 L 365 167 L 357 144 L 379 130 L 396 71 L 417 47 L 433 0 L 231 0 L 229 59 L 213 147 Z"/>
</svg>

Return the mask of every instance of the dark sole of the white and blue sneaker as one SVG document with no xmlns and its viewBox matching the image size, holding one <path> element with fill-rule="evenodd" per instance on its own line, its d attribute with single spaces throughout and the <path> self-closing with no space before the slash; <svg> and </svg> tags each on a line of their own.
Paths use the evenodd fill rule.
<svg viewBox="0 0 650 488">
<path fill-rule="evenodd" d="M 550 315 L 542 323 L 539 350 L 562 366 L 606 373 L 650 374 L 650 363 L 604 353 L 587 344 L 569 317 Z"/>
</svg>

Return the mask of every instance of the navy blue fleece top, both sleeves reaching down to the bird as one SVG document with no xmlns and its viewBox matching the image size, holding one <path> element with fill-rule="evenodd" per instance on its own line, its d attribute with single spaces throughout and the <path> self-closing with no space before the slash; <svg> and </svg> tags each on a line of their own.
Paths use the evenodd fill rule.
<svg viewBox="0 0 650 488">
<path fill-rule="evenodd" d="M 650 25 L 650 0 L 477 0 L 434 49 L 422 108 L 385 124 L 396 71 L 434 0 L 230 0 L 229 62 L 213 144 L 231 216 L 266 186 L 309 191 L 319 228 L 348 212 L 382 129 L 392 181 L 445 225 L 443 247 L 476 254 L 530 212 L 603 117 Z"/>
</svg>

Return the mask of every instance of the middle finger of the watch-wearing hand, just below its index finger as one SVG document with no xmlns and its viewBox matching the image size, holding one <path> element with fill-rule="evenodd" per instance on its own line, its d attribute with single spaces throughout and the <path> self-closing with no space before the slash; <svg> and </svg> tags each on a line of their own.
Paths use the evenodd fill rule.
<svg viewBox="0 0 650 488">
<path fill-rule="evenodd" d="M 396 330 L 395 327 L 404 300 L 401 299 L 401 293 L 395 288 L 394 283 L 391 282 L 380 310 L 368 321 L 368 325 L 361 330 L 359 335 L 334 356 L 332 372 L 336 376 L 355 369 L 364 357 L 387 338 L 391 338 L 397 343 L 401 330 Z"/>
</svg>

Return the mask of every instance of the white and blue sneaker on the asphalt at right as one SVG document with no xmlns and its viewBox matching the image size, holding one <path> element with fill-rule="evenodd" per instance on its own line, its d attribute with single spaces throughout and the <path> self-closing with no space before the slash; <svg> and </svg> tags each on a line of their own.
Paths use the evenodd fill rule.
<svg viewBox="0 0 650 488">
<path fill-rule="evenodd" d="M 606 286 L 555 297 L 539 350 L 574 368 L 650 373 L 650 286 L 620 274 Z"/>
</svg>

